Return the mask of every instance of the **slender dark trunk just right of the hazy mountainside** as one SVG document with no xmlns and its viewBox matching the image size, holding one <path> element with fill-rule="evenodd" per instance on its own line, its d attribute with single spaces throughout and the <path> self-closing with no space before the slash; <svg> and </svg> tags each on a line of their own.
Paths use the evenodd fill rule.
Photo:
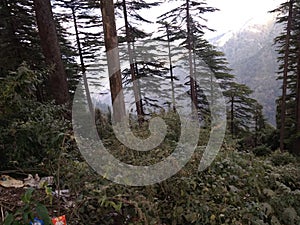
<svg viewBox="0 0 300 225">
<path fill-rule="evenodd" d="M 286 118 L 286 92 L 287 92 L 287 78 L 289 66 L 289 48 L 293 15 L 294 0 L 289 1 L 289 13 L 286 28 L 285 51 L 284 51 L 284 67 L 283 67 L 283 84 L 282 84 L 282 103 L 281 103 L 281 116 L 280 116 L 280 151 L 284 151 L 284 138 L 285 138 L 285 118 Z"/>
</svg>

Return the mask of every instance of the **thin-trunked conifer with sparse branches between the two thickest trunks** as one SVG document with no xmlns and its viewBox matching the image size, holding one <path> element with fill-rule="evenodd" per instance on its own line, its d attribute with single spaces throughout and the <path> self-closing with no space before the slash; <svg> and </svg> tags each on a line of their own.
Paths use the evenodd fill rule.
<svg viewBox="0 0 300 225">
<path fill-rule="evenodd" d="M 93 116 L 94 106 L 88 76 L 92 76 L 96 69 L 96 62 L 99 60 L 97 52 L 100 52 L 103 45 L 103 41 L 101 41 L 103 35 L 100 33 L 102 26 L 100 5 L 89 0 L 56 0 L 55 5 L 60 8 L 58 11 L 63 10 L 63 14 L 60 13 L 59 17 L 72 24 L 74 28 L 73 35 L 76 39 L 77 55 L 80 60 L 80 76 L 83 80 L 89 111 Z"/>
</svg>

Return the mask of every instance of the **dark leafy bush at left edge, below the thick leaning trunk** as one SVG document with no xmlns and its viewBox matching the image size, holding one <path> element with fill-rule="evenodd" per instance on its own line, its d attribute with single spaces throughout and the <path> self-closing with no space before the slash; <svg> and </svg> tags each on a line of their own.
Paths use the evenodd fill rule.
<svg viewBox="0 0 300 225">
<path fill-rule="evenodd" d="M 57 157 L 69 122 L 65 109 L 37 99 L 47 71 L 23 63 L 0 82 L 0 167 L 30 168 Z"/>
</svg>

